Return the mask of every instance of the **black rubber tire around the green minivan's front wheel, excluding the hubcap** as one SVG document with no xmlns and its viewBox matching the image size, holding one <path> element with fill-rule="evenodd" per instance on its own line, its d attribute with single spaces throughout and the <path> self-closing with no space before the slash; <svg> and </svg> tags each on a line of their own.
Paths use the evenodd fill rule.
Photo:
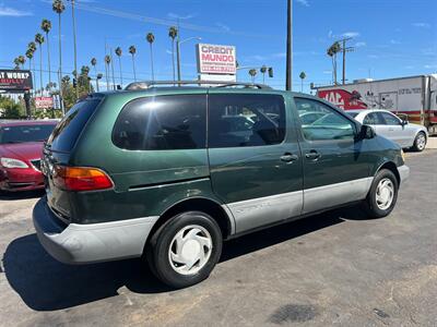
<svg viewBox="0 0 437 327">
<path fill-rule="evenodd" d="M 385 208 L 383 206 L 381 208 L 380 205 L 378 205 L 377 203 L 377 189 L 379 182 L 385 179 L 390 180 L 390 182 L 392 183 L 393 195 L 391 204 L 387 208 Z M 368 192 L 367 197 L 364 201 L 364 209 L 366 214 L 369 216 L 369 218 L 382 218 L 390 215 L 398 199 L 398 190 L 399 190 L 398 179 L 395 178 L 394 173 L 391 170 L 381 169 L 380 171 L 378 171 L 371 183 L 370 191 Z"/>
</svg>

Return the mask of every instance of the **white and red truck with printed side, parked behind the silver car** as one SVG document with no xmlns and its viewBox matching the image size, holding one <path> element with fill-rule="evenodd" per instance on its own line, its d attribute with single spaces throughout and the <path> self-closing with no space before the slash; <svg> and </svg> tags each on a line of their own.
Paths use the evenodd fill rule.
<svg viewBox="0 0 437 327">
<path fill-rule="evenodd" d="M 437 74 L 389 80 L 357 80 L 345 85 L 312 86 L 339 108 L 386 109 L 437 134 Z"/>
</svg>

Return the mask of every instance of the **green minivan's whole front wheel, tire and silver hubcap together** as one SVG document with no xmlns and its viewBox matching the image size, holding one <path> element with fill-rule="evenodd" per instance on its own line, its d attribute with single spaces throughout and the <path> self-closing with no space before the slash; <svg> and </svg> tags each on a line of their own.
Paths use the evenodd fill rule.
<svg viewBox="0 0 437 327">
<path fill-rule="evenodd" d="M 381 169 L 371 183 L 364 208 L 371 218 L 382 218 L 393 210 L 398 199 L 398 180 L 393 172 Z"/>
</svg>

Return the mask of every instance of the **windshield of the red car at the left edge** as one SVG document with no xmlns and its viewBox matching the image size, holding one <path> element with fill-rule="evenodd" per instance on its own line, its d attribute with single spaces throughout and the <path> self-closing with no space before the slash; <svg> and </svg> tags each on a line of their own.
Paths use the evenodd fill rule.
<svg viewBox="0 0 437 327">
<path fill-rule="evenodd" d="M 46 141 L 55 124 L 16 125 L 0 128 L 0 144 Z"/>
</svg>

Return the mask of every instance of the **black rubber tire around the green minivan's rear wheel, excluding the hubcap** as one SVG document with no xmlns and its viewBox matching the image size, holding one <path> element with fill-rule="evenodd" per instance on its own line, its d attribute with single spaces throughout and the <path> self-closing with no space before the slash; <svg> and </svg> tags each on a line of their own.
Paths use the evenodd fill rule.
<svg viewBox="0 0 437 327">
<path fill-rule="evenodd" d="M 208 231 L 212 247 L 205 264 L 191 275 L 182 275 L 173 268 L 169 251 L 176 234 L 190 226 L 199 226 Z M 146 244 L 146 259 L 152 272 L 167 286 L 180 289 L 206 279 L 214 269 L 222 254 L 223 237 L 216 221 L 201 211 L 187 211 L 165 222 Z M 202 246 L 203 249 L 203 246 Z"/>
</svg>

